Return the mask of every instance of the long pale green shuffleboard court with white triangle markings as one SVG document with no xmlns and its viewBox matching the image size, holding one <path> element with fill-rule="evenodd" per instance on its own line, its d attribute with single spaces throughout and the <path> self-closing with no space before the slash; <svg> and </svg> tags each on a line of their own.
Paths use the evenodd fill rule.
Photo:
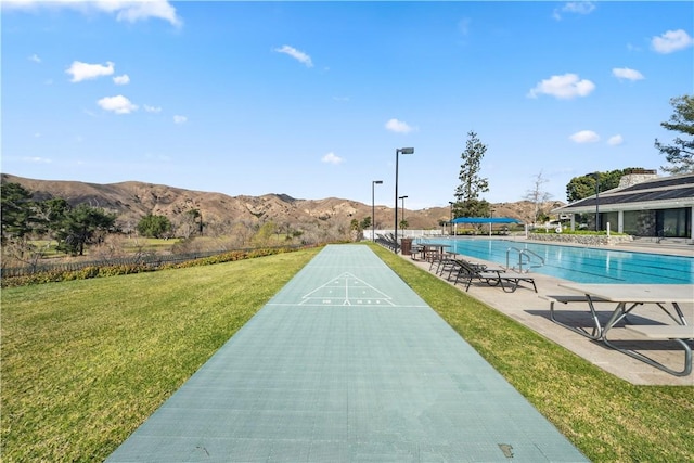
<svg viewBox="0 0 694 463">
<path fill-rule="evenodd" d="M 587 459 L 369 247 L 333 245 L 108 461 Z"/>
</svg>

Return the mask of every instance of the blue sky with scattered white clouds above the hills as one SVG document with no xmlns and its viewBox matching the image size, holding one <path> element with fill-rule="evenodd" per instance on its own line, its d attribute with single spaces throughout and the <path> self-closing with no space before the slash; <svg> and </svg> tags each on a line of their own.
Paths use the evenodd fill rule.
<svg viewBox="0 0 694 463">
<path fill-rule="evenodd" d="M 659 168 L 694 3 L 2 0 L 2 171 L 448 206 Z M 400 203 L 399 203 L 400 204 Z"/>
</svg>

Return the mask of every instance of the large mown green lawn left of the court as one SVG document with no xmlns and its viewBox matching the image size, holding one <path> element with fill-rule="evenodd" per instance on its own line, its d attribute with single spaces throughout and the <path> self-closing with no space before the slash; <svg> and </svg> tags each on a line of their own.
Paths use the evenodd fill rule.
<svg viewBox="0 0 694 463">
<path fill-rule="evenodd" d="M 318 250 L 3 290 L 2 461 L 105 459 Z"/>
</svg>

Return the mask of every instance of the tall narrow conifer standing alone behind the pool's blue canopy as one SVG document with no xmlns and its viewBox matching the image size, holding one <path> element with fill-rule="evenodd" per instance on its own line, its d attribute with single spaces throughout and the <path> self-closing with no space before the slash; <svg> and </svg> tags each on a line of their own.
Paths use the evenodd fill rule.
<svg viewBox="0 0 694 463">
<path fill-rule="evenodd" d="M 463 163 L 458 176 L 461 184 L 455 189 L 458 201 L 453 204 L 454 217 L 488 217 L 490 215 L 490 204 L 479 200 L 480 193 L 489 191 L 489 181 L 479 176 L 481 158 L 486 152 L 487 146 L 479 141 L 477 133 L 467 132 L 465 151 L 460 155 Z"/>
</svg>

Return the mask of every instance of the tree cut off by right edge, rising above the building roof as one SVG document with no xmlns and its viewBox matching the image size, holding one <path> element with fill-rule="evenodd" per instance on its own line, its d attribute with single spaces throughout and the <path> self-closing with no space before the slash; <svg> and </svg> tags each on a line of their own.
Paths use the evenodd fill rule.
<svg viewBox="0 0 694 463">
<path fill-rule="evenodd" d="M 694 94 L 682 95 L 670 99 L 670 104 L 674 108 L 674 114 L 669 121 L 660 123 L 667 130 L 690 136 L 690 139 L 677 137 L 671 145 L 665 145 L 655 140 L 655 147 L 665 154 L 665 158 L 670 166 L 660 167 L 670 173 L 694 172 Z"/>
</svg>

